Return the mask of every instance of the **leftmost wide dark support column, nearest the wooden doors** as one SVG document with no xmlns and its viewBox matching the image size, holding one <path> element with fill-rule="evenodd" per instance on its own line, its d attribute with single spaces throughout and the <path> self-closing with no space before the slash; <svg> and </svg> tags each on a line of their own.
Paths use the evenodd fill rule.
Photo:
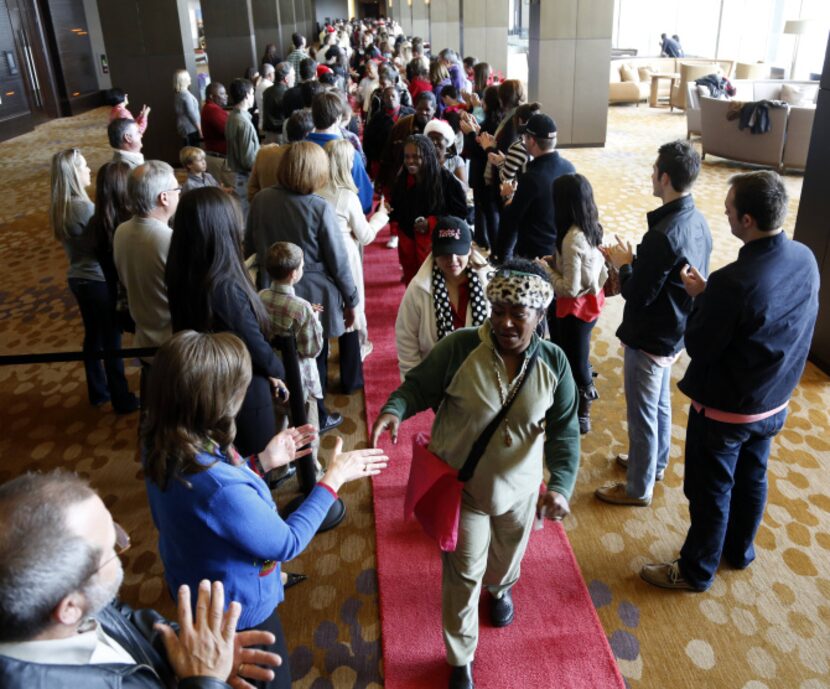
<svg viewBox="0 0 830 689">
<path fill-rule="evenodd" d="M 178 165 L 173 73 L 190 72 L 194 95 L 197 83 L 187 0 L 99 0 L 98 14 L 112 83 L 130 94 L 134 109 L 153 108 L 145 158 Z"/>
</svg>

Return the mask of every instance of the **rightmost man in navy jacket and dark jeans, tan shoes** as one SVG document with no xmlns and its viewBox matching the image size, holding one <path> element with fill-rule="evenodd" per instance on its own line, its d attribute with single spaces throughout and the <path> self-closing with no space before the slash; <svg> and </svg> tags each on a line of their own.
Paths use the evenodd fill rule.
<svg viewBox="0 0 830 689">
<path fill-rule="evenodd" d="M 686 427 L 691 526 L 680 558 L 640 575 L 664 588 L 705 591 L 723 555 L 744 569 L 767 496 L 767 460 L 787 416 L 818 313 L 813 253 L 781 225 L 787 191 L 775 172 L 730 180 L 726 216 L 744 246 L 709 281 L 686 266 L 695 298 L 686 329 L 691 363 L 679 387 L 692 400 Z"/>
</svg>

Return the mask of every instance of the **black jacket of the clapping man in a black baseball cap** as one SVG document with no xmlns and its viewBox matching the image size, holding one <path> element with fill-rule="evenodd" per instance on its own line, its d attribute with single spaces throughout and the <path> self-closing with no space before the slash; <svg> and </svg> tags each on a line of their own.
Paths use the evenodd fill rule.
<svg viewBox="0 0 830 689">
<path fill-rule="evenodd" d="M 539 156 L 527 164 L 513 201 L 505 206 L 499 224 L 498 256 L 506 260 L 550 256 L 556 249 L 553 220 L 553 181 L 576 172 L 559 151 Z"/>
</svg>

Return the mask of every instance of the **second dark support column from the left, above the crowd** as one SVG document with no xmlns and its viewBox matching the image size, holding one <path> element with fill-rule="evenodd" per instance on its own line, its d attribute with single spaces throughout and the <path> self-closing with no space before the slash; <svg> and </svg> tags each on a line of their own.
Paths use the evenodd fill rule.
<svg viewBox="0 0 830 689">
<path fill-rule="evenodd" d="M 226 86 L 257 67 L 251 0 L 201 0 L 210 78 Z"/>
</svg>

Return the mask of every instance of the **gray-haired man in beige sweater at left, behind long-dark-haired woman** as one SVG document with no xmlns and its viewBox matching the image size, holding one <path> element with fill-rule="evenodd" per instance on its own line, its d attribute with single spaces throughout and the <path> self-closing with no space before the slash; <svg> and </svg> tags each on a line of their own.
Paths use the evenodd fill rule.
<svg viewBox="0 0 830 689">
<path fill-rule="evenodd" d="M 115 228 L 112 249 L 135 321 L 136 347 L 158 347 L 172 334 L 164 270 L 173 236 L 168 223 L 176 213 L 181 190 L 173 168 L 160 160 L 139 165 L 127 182 L 133 217 Z M 142 396 L 148 365 L 142 361 Z"/>
</svg>

